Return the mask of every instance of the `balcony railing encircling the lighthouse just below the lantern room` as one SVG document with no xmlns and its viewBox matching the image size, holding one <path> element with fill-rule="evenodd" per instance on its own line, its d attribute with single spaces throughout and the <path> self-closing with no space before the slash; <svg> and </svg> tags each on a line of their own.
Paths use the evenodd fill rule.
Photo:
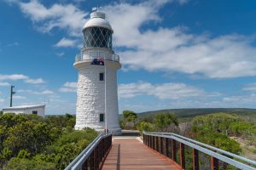
<svg viewBox="0 0 256 170">
<path fill-rule="evenodd" d="M 76 55 L 75 62 L 83 61 L 83 60 L 92 60 L 102 58 L 104 60 L 110 60 L 119 62 L 119 55 L 117 54 L 111 54 L 108 52 L 83 52 Z"/>
</svg>

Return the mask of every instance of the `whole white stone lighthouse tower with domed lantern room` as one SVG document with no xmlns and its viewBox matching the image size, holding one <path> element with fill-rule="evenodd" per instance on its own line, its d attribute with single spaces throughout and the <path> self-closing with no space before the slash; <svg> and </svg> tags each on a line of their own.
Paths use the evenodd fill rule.
<svg viewBox="0 0 256 170">
<path fill-rule="evenodd" d="M 119 56 L 112 50 L 113 29 L 104 13 L 90 14 L 83 28 L 84 48 L 76 56 L 79 70 L 76 129 L 121 133 L 117 94 Z"/>
</svg>

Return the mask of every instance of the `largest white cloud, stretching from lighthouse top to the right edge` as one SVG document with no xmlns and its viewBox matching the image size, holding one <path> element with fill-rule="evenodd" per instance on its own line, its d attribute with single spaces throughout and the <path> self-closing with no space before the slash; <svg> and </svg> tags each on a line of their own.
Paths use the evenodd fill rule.
<svg viewBox="0 0 256 170">
<path fill-rule="evenodd" d="M 209 37 L 189 34 L 183 27 L 141 31 L 149 21 L 160 22 L 158 11 L 165 3 L 120 3 L 103 8 L 113 26 L 114 45 L 131 49 L 119 52 L 128 69 L 179 71 L 210 78 L 256 75 L 253 37 Z"/>
</svg>

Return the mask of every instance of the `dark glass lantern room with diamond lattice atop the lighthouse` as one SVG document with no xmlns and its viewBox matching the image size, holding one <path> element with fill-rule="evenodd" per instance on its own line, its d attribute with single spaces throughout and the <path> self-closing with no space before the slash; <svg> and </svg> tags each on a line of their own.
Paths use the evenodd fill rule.
<svg viewBox="0 0 256 170">
<path fill-rule="evenodd" d="M 102 27 L 90 27 L 84 31 L 84 48 L 112 49 L 112 31 Z"/>
</svg>

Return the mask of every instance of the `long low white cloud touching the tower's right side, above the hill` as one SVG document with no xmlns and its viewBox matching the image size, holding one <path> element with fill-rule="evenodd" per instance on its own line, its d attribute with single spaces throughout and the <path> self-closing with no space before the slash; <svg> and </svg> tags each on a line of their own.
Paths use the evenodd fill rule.
<svg viewBox="0 0 256 170">
<path fill-rule="evenodd" d="M 183 83 L 170 82 L 154 85 L 149 82 L 136 82 L 119 84 L 120 98 L 133 98 L 139 95 L 151 95 L 158 99 L 183 99 L 206 94 L 199 88 Z"/>
</svg>

